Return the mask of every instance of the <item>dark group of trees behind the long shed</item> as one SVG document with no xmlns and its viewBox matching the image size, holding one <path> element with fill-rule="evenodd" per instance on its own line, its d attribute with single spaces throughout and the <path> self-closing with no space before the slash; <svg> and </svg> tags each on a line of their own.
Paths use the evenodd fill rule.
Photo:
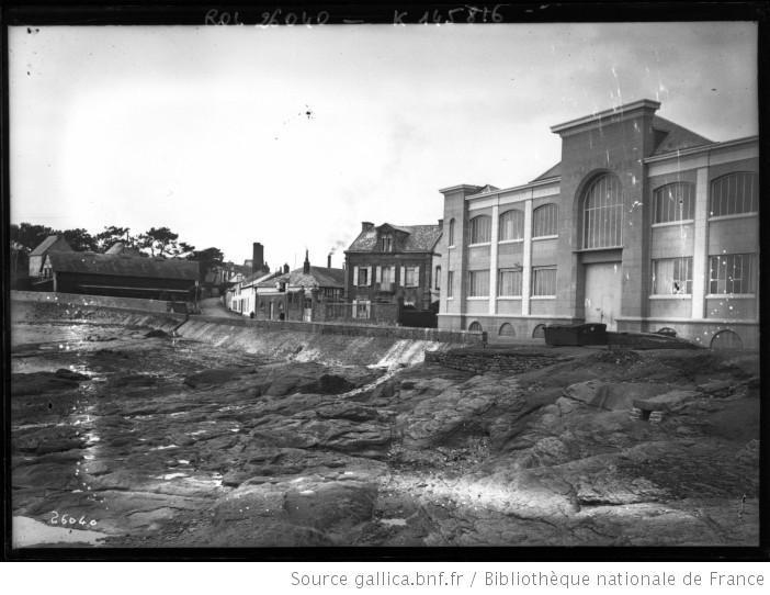
<svg viewBox="0 0 770 595">
<path fill-rule="evenodd" d="M 128 227 L 110 225 L 104 227 L 103 232 L 91 235 L 81 227 L 59 231 L 46 225 L 21 223 L 11 224 L 10 232 L 11 251 L 24 255 L 29 255 L 46 237 L 61 235 L 76 251 L 103 252 L 115 243 L 122 242 L 126 247 L 134 248 L 144 256 L 186 258 L 206 262 L 208 266 L 220 263 L 225 258 L 218 248 L 196 250 L 195 246 L 180 242 L 179 234 L 168 227 L 150 227 L 147 232 L 133 235 Z"/>
</svg>

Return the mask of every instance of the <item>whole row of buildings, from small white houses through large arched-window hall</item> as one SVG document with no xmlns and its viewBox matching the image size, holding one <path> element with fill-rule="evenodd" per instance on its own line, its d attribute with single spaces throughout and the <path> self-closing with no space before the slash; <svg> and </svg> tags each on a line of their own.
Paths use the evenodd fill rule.
<svg viewBox="0 0 770 595">
<path fill-rule="evenodd" d="M 233 307 L 385 324 L 433 308 L 439 328 L 490 341 L 596 322 L 757 347 L 758 137 L 712 142 L 659 108 L 645 99 L 554 125 L 562 159 L 534 180 L 446 187 L 438 225 L 364 222 L 343 269 L 306 258 L 237 287 Z"/>
</svg>

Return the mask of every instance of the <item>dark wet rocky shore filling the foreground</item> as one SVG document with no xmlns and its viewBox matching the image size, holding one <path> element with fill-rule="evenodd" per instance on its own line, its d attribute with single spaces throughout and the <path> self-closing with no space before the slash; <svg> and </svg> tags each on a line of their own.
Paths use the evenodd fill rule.
<svg viewBox="0 0 770 595">
<path fill-rule="evenodd" d="M 474 374 L 149 330 L 14 327 L 18 546 L 758 542 L 756 353 L 582 349 Z"/>
</svg>

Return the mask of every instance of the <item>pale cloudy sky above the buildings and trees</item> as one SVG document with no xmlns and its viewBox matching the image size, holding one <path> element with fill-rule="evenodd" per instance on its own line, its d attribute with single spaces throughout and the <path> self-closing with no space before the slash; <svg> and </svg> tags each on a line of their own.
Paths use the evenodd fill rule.
<svg viewBox="0 0 770 595">
<path fill-rule="evenodd" d="M 439 189 L 526 183 L 550 126 L 653 99 L 757 134 L 752 23 L 10 27 L 11 222 L 168 226 L 227 259 L 341 267 Z"/>
</svg>

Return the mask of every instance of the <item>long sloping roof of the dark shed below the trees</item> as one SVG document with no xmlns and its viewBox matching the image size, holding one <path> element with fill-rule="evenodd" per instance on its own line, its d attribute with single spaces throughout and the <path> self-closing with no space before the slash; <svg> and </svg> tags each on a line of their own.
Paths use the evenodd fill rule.
<svg viewBox="0 0 770 595">
<path fill-rule="evenodd" d="M 197 262 L 179 258 L 150 258 L 95 252 L 50 252 L 48 258 L 55 272 L 184 279 L 190 281 L 195 281 L 199 278 Z"/>
</svg>

